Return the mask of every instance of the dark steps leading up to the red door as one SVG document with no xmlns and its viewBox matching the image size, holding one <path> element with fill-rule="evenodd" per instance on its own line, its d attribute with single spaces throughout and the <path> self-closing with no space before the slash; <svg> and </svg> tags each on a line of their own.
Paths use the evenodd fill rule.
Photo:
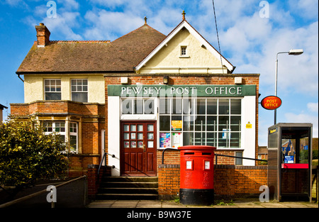
<svg viewBox="0 0 319 222">
<path fill-rule="evenodd" d="M 157 199 L 157 177 L 103 177 L 96 199 Z"/>
</svg>

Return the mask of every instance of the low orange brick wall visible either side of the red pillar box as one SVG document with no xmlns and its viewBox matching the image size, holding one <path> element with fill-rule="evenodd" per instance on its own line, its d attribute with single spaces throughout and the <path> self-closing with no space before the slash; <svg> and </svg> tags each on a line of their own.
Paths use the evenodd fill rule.
<svg viewBox="0 0 319 222">
<path fill-rule="evenodd" d="M 159 199 L 175 199 L 179 195 L 179 165 L 159 165 Z M 267 185 L 267 166 L 214 166 L 214 192 L 220 196 L 260 194 Z"/>
</svg>

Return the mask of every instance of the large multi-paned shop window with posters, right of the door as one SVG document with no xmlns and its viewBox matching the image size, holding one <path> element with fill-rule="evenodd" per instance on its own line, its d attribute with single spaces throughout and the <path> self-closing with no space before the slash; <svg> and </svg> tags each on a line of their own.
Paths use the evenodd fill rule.
<svg viewBox="0 0 319 222">
<path fill-rule="evenodd" d="M 179 145 L 240 148 L 241 99 L 159 99 L 159 131 L 172 139 L 169 143 L 172 147 L 174 140 L 179 141 L 175 148 Z"/>
</svg>

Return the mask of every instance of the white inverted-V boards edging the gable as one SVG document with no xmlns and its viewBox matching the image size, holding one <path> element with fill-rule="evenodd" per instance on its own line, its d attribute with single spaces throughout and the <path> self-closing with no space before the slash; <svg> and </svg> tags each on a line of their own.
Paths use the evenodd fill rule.
<svg viewBox="0 0 319 222">
<path fill-rule="evenodd" d="M 181 23 L 179 23 L 179 26 L 177 26 L 172 33 L 169 33 L 169 35 L 167 35 L 167 38 L 165 38 L 162 43 L 160 43 L 159 45 L 157 45 L 157 48 L 155 48 L 155 50 L 153 50 L 152 52 L 150 52 L 149 55 L 147 55 L 147 57 L 145 57 L 144 60 L 142 60 L 142 62 L 140 62 L 140 64 L 138 66 L 135 67 L 135 70 L 140 70 L 145 64 L 146 62 L 148 62 L 154 55 L 156 55 L 156 53 L 161 50 L 165 45 L 167 45 L 167 43 L 169 42 L 169 40 L 171 40 L 175 35 L 177 35 L 177 33 L 179 33 L 179 31 L 181 30 L 181 28 L 186 28 L 187 30 L 189 30 L 189 33 L 191 33 L 191 35 L 193 35 L 202 45 L 204 45 L 207 50 L 209 52 L 211 52 L 214 56 L 216 56 L 217 58 L 220 57 L 220 53 L 213 48 L 213 46 L 211 46 L 211 44 L 209 44 L 207 42 L 207 40 L 205 40 L 191 25 L 189 25 L 189 23 L 184 20 Z M 230 62 L 228 62 L 227 60 L 225 60 L 225 58 L 222 57 L 222 62 L 223 65 L 225 65 L 225 67 L 228 68 L 228 70 L 230 70 L 230 72 L 232 72 L 234 70 L 233 65 L 230 64 Z"/>
</svg>

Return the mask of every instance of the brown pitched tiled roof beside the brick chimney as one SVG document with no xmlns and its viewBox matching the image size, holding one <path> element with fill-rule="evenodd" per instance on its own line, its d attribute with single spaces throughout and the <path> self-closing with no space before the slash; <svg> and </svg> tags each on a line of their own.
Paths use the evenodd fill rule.
<svg viewBox="0 0 319 222">
<path fill-rule="evenodd" d="M 50 41 L 38 48 L 35 41 L 16 73 L 133 72 L 165 37 L 145 24 L 113 42 Z"/>
</svg>

